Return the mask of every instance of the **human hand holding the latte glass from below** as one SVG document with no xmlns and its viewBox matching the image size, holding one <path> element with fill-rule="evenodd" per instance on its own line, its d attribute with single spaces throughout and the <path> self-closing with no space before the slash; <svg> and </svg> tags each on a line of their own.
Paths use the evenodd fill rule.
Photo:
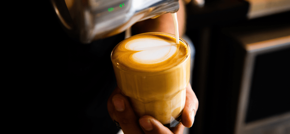
<svg viewBox="0 0 290 134">
<path fill-rule="evenodd" d="M 184 127 L 191 127 L 198 108 L 198 100 L 191 85 L 186 87 L 186 101 L 180 124 L 172 130 L 164 127 L 152 116 L 142 116 L 138 119 L 128 99 L 117 87 L 107 102 L 110 117 L 118 122 L 124 134 L 182 134 Z"/>
</svg>

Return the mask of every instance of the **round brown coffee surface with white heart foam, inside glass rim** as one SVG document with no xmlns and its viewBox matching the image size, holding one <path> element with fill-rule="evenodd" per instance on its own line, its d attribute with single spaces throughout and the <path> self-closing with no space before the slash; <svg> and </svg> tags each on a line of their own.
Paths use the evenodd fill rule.
<svg viewBox="0 0 290 134">
<path fill-rule="evenodd" d="M 158 33 L 139 34 L 120 42 L 112 52 L 112 62 L 122 68 L 155 72 L 174 67 L 187 54 L 187 46 L 175 38 Z"/>
</svg>

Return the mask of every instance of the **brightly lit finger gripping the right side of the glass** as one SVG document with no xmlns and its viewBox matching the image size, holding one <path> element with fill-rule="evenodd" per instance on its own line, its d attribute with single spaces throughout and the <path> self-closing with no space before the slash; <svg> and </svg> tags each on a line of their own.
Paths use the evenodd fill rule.
<svg viewBox="0 0 290 134">
<path fill-rule="evenodd" d="M 191 127 L 198 108 L 198 100 L 193 92 L 191 85 L 186 87 L 186 100 L 181 117 L 181 122 L 185 127 Z"/>
</svg>

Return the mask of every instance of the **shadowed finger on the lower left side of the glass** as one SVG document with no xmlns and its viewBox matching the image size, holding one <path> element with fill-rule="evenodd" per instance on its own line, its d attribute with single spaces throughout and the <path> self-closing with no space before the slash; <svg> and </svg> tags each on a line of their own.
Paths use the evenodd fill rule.
<svg viewBox="0 0 290 134">
<path fill-rule="evenodd" d="M 142 134 L 138 119 L 128 99 L 118 90 L 116 89 L 108 100 L 108 111 L 112 120 L 119 123 L 125 134 Z"/>
</svg>

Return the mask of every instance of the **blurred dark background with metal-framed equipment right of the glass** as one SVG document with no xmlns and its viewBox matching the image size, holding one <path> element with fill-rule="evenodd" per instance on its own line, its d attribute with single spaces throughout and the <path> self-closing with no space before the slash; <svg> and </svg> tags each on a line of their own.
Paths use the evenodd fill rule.
<svg viewBox="0 0 290 134">
<path fill-rule="evenodd" d="M 289 0 L 187 5 L 195 45 L 191 134 L 290 134 Z"/>
</svg>

